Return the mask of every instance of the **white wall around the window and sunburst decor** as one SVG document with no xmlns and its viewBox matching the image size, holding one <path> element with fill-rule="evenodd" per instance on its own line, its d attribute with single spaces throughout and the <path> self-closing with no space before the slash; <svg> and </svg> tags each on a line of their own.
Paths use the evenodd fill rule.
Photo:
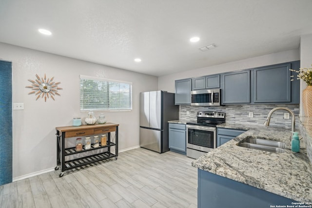
<svg viewBox="0 0 312 208">
<path fill-rule="evenodd" d="M 119 150 L 139 145 L 139 93 L 157 90 L 157 77 L 134 73 L 68 57 L 0 43 L 0 59 L 12 61 L 13 102 L 24 103 L 24 110 L 13 111 L 13 178 L 56 166 L 55 127 L 71 126 L 73 117 L 85 117 L 79 108 L 79 75 L 98 76 L 133 82 L 133 110 L 95 112 L 108 122 L 119 124 Z M 28 95 L 28 79 L 55 77 L 61 82 L 55 101 L 46 102 Z M 2 89 L 3 90 L 3 89 Z"/>
</svg>

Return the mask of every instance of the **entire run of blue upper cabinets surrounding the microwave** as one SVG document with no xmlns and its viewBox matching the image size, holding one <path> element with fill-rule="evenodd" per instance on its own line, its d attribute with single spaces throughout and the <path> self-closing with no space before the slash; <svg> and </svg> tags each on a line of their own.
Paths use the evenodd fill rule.
<svg viewBox="0 0 312 208">
<path fill-rule="evenodd" d="M 298 104 L 300 61 L 246 69 L 217 75 L 176 80 L 176 105 L 191 105 L 191 91 L 221 88 L 222 105 Z M 293 81 L 291 81 L 293 76 Z M 193 86 L 192 86 L 193 85 Z M 192 88 L 193 87 L 193 88 Z"/>
</svg>

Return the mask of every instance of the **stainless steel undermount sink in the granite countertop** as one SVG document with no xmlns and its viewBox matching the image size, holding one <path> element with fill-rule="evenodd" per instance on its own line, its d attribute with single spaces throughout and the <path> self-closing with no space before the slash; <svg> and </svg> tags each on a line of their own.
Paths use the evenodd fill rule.
<svg viewBox="0 0 312 208">
<path fill-rule="evenodd" d="M 237 144 L 240 147 L 282 153 L 285 151 L 285 142 L 260 138 L 246 138 Z"/>
</svg>

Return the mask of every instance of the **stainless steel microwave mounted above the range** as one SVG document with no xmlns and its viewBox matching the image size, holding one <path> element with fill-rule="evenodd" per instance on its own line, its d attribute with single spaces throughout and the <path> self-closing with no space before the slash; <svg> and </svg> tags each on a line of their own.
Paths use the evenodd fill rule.
<svg viewBox="0 0 312 208">
<path fill-rule="evenodd" d="M 191 105 L 220 106 L 221 105 L 221 89 L 191 91 Z"/>
</svg>

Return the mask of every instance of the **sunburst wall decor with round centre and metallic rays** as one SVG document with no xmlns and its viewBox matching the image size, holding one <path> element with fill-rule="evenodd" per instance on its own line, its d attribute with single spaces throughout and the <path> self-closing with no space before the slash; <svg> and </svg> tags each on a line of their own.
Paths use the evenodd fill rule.
<svg viewBox="0 0 312 208">
<path fill-rule="evenodd" d="M 51 79 L 46 79 L 46 76 L 44 74 L 44 78 L 43 77 L 39 77 L 36 74 L 37 79 L 31 80 L 28 79 L 28 81 L 30 81 L 32 84 L 31 86 L 26 86 L 26 88 L 31 88 L 32 92 L 28 93 L 28 95 L 31 94 L 35 94 L 37 95 L 36 100 L 39 99 L 39 97 L 43 98 L 44 97 L 44 101 L 47 101 L 47 98 L 51 97 L 53 100 L 55 95 L 59 95 L 58 91 L 62 90 L 62 88 L 58 87 L 58 85 L 60 84 L 60 82 L 54 82 L 54 76 Z M 59 95 L 60 96 L 60 95 Z"/>
</svg>

